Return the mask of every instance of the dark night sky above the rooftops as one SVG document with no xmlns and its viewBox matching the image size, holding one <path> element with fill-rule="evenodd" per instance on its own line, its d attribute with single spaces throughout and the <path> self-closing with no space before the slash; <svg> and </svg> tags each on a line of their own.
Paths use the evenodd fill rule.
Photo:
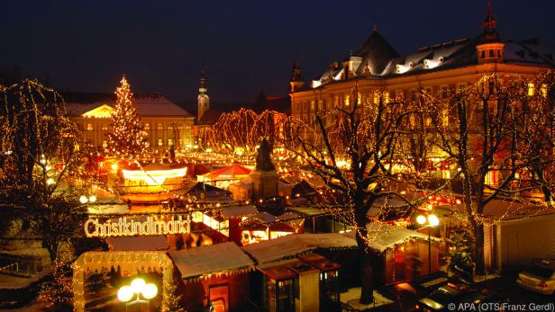
<svg viewBox="0 0 555 312">
<path fill-rule="evenodd" d="M 504 39 L 555 46 L 553 0 L 493 0 Z M 0 65 L 48 75 L 60 90 L 135 93 L 195 102 L 203 65 L 215 102 L 286 95 L 300 54 L 306 78 L 357 49 L 378 18 L 402 54 L 479 33 L 486 0 L 2 1 Z"/>
</svg>

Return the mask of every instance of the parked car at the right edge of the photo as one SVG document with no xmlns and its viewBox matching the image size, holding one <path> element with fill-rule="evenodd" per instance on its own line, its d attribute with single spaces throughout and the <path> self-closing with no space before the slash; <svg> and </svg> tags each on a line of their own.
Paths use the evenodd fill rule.
<svg viewBox="0 0 555 312">
<path fill-rule="evenodd" d="M 516 283 L 525 290 L 555 293 L 555 261 L 534 259 L 530 269 L 518 273 Z"/>
</svg>

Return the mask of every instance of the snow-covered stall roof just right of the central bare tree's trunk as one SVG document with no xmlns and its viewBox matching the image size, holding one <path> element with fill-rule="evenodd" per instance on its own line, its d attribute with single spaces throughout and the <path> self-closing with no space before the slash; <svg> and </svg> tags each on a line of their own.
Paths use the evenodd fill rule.
<svg viewBox="0 0 555 312">
<path fill-rule="evenodd" d="M 354 236 L 354 232 L 350 232 L 349 235 Z M 430 239 L 434 243 L 441 241 L 440 238 L 433 236 Z M 380 253 L 414 240 L 428 240 L 428 235 L 386 223 L 373 222 L 368 225 L 368 246 Z"/>
</svg>

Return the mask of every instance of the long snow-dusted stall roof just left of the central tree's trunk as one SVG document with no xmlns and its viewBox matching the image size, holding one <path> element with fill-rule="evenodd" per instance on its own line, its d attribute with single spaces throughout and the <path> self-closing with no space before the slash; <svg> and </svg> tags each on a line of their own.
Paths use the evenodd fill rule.
<svg viewBox="0 0 555 312">
<path fill-rule="evenodd" d="M 242 249 L 258 263 L 272 263 L 305 254 L 316 248 L 355 248 L 357 242 L 340 233 L 295 234 L 243 246 Z"/>
</svg>

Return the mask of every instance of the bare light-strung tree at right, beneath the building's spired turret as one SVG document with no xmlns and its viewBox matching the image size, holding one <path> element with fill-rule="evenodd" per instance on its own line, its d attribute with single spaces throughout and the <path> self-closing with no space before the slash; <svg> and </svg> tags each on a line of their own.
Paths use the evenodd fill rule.
<svg viewBox="0 0 555 312">
<path fill-rule="evenodd" d="M 482 76 L 477 83 L 451 90 L 448 100 L 429 104 L 447 111 L 448 123 L 435 123 L 446 162 L 459 167 L 466 218 L 476 241 L 476 273 L 484 275 L 484 210 L 496 199 L 516 199 L 527 187 L 517 177 L 526 166 L 518 148 L 522 124 L 521 77 Z"/>
</svg>

